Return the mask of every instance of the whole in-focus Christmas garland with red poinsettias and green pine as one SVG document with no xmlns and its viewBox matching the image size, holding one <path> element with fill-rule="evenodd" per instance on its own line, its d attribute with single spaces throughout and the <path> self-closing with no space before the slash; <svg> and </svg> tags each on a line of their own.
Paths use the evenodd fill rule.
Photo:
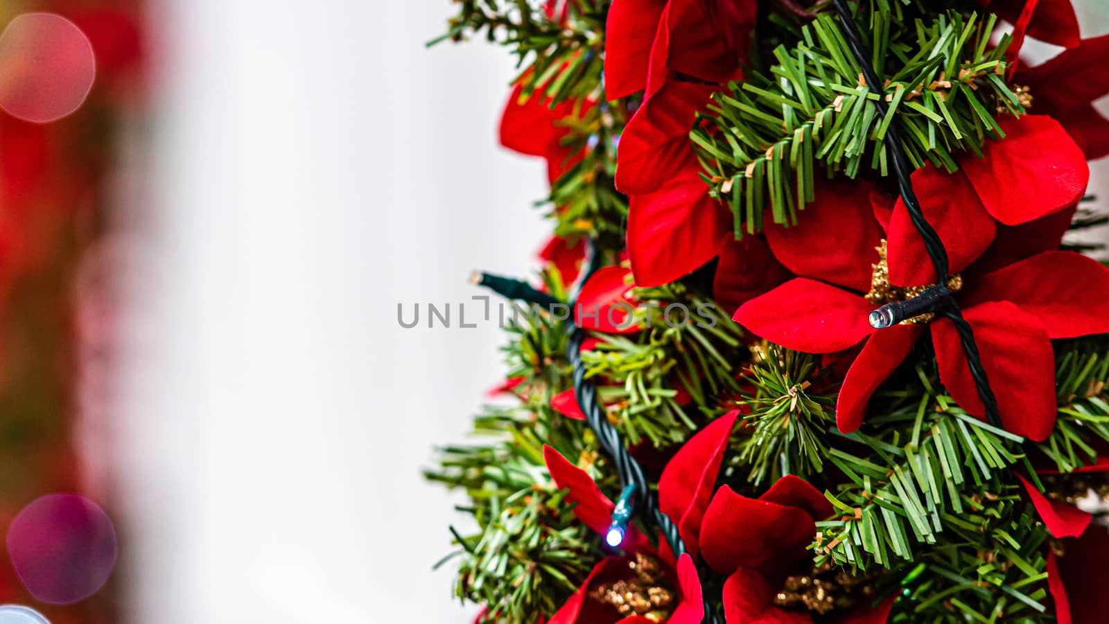
<svg viewBox="0 0 1109 624">
<path fill-rule="evenodd" d="M 1109 37 L 1065 1 L 458 4 L 519 59 L 501 139 L 554 222 L 538 286 L 479 280 L 535 311 L 516 404 L 427 472 L 479 622 L 1100 621 L 1109 269 L 1064 235 L 1105 221 Z"/>
</svg>

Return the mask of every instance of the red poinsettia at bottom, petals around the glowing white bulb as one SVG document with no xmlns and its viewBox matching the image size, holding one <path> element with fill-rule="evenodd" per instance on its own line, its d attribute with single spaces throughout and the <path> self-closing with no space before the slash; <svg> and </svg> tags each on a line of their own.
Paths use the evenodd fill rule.
<svg viewBox="0 0 1109 624">
<path fill-rule="evenodd" d="M 586 471 L 574 466 L 558 451 L 550 446 L 543 447 L 543 459 L 551 477 L 560 489 L 569 490 L 567 501 L 573 505 L 574 515 L 587 526 L 606 534 L 612 522 L 612 501 L 601 494 L 600 490 Z M 629 526 L 622 545 L 627 553 L 621 556 L 610 556 L 598 563 L 581 587 L 549 620 L 550 624 L 650 624 L 651 620 L 639 615 L 622 617 L 612 605 L 592 596 L 597 587 L 603 583 L 612 583 L 629 578 L 633 572 L 629 557 L 635 553 L 657 556 L 650 543 L 634 527 Z M 660 557 L 661 558 L 661 557 Z M 701 581 L 696 567 L 688 554 L 676 561 L 662 558 L 668 567 L 665 577 L 670 587 L 676 594 L 673 611 L 668 624 L 700 624 L 704 617 L 704 605 L 701 595 Z"/>
</svg>

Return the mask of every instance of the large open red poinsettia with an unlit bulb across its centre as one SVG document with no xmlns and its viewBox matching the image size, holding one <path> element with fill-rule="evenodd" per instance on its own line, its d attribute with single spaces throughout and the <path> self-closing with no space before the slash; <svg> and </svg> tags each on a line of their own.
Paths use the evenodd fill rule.
<svg viewBox="0 0 1109 624">
<path fill-rule="evenodd" d="M 1016 228 L 1044 218 L 1055 223 L 1052 215 L 1070 209 L 1085 192 L 1086 162 L 1057 122 L 1026 117 L 1003 127 L 1008 138 L 988 145 L 983 159 L 965 159 L 960 172 L 925 168 L 913 173 L 922 210 L 947 249 L 953 274 L 991 249 L 998 236 L 995 219 Z M 840 392 L 836 422 L 844 432 L 858 429 L 869 396 L 925 331 L 923 324 L 875 331 L 867 321 L 875 305 L 862 293 L 872 285 L 871 266 L 878 260 L 874 248 L 882 236 L 878 220 L 864 203 L 867 193 L 861 183 L 825 187 L 796 227 L 767 228 L 777 259 L 801 276 L 735 314 L 756 335 L 796 351 L 834 353 L 865 341 Z M 889 283 L 936 283 L 904 203 L 897 200 L 887 218 L 885 211 L 878 207 L 874 212 L 888 219 Z M 1109 331 L 1109 318 L 1099 312 L 1109 305 L 1109 270 L 1077 253 L 1046 251 L 1059 244 L 1046 232 L 1038 245 L 1024 230 L 1008 230 L 1005 236 L 1019 242 L 1021 253 L 1039 253 L 1015 256 L 1005 250 L 1013 259 L 1008 264 L 984 275 L 971 269 L 956 298 L 974 329 L 1006 429 L 1044 440 L 1056 413 L 1050 340 Z M 939 319 L 928 329 L 944 385 L 964 410 L 983 417 L 985 407 L 954 324 Z"/>
</svg>

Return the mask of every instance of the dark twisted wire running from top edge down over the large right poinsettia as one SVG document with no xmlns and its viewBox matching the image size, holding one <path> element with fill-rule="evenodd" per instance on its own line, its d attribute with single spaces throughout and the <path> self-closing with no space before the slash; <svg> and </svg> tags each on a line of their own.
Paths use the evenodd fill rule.
<svg viewBox="0 0 1109 624">
<path fill-rule="evenodd" d="M 833 0 L 833 4 L 835 4 L 836 12 L 840 16 L 840 24 L 846 36 L 847 47 L 851 48 L 852 53 L 855 54 L 855 59 L 863 70 L 863 78 L 866 80 L 871 91 L 878 95 L 878 100 L 875 102 L 878 114 L 885 117 L 889 112 L 885 100 L 885 87 L 871 64 L 866 47 L 863 44 L 858 27 L 855 24 L 855 18 L 852 16 L 846 0 Z M 946 289 L 949 276 L 947 250 L 944 248 L 944 242 L 939 239 L 939 235 L 928 223 L 928 220 L 924 218 L 920 203 L 916 199 L 916 193 L 913 192 L 910 178 L 913 168 L 905 153 L 905 147 L 901 140 L 901 130 L 897 127 L 896 119 L 889 124 L 889 129 L 886 131 L 885 142 L 888 153 L 893 157 L 894 174 L 897 177 L 897 187 L 901 190 L 902 199 L 905 201 L 905 208 L 908 209 L 909 219 L 913 221 L 913 225 L 917 232 L 920 233 L 920 238 L 924 239 L 925 250 L 927 250 L 928 258 L 932 259 L 932 264 L 936 269 L 936 276 L 939 278 L 939 288 Z M 945 308 L 939 312 L 955 324 L 955 330 L 959 334 L 959 342 L 963 343 L 963 351 L 967 358 L 967 366 L 970 369 L 970 376 L 974 378 L 978 396 L 986 407 L 986 420 L 989 421 L 989 424 L 1001 429 L 1001 417 L 997 410 L 997 397 L 989 386 L 986 370 L 981 365 L 981 355 L 978 352 L 978 345 L 975 343 L 974 330 L 970 328 L 970 323 L 967 323 L 963 318 L 963 311 L 954 298 L 946 298 Z"/>
</svg>

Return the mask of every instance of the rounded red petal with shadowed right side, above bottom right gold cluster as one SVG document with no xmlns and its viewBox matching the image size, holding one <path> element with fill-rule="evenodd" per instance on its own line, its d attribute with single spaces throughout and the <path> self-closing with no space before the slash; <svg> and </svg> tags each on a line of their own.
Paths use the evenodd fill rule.
<svg viewBox="0 0 1109 624">
<path fill-rule="evenodd" d="M 736 568 L 786 570 L 806 557 L 805 546 L 816 535 L 808 512 L 716 491 L 701 525 L 701 556 L 722 574 Z"/>
</svg>

